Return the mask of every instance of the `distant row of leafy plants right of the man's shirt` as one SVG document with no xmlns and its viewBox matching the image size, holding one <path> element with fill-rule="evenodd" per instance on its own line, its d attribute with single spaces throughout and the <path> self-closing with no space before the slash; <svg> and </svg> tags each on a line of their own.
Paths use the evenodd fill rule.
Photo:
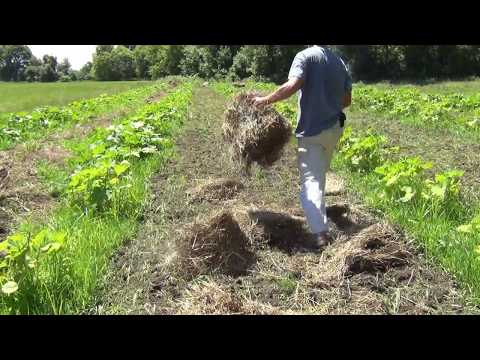
<svg viewBox="0 0 480 360">
<path fill-rule="evenodd" d="M 480 95 L 426 94 L 413 87 L 356 85 L 353 110 L 369 111 L 431 128 L 480 129 Z"/>
</svg>

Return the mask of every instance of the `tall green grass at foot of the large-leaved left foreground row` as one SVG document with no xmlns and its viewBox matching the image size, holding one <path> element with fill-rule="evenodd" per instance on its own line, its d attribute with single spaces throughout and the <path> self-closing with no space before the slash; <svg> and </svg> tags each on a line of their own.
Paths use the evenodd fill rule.
<svg viewBox="0 0 480 360">
<path fill-rule="evenodd" d="M 35 272 L 24 272 L 18 282 L 21 291 L 10 298 L 3 295 L 0 313 L 73 314 L 90 304 L 113 252 L 135 234 L 150 193 L 148 179 L 165 158 L 152 157 L 134 166 L 132 187 L 116 199 L 122 214 L 112 211 L 98 216 L 64 203 L 46 224 L 22 224 L 22 233 L 36 233 L 46 225 L 66 233 L 68 240 L 48 261 L 39 261 Z"/>
</svg>

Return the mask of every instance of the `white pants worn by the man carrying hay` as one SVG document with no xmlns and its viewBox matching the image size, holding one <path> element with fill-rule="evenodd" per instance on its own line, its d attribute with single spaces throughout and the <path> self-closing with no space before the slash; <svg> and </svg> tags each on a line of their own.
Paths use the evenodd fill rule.
<svg viewBox="0 0 480 360">
<path fill-rule="evenodd" d="M 298 139 L 298 168 L 302 190 L 300 200 L 310 230 L 314 234 L 328 231 L 325 206 L 325 181 L 333 152 L 343 128 L 337 124 L 317 136 Z"/>
</svg>

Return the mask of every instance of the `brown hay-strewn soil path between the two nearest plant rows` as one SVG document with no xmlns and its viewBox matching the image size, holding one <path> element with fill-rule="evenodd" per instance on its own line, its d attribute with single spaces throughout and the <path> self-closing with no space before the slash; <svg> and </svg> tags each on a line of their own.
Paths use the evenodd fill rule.
<svg viewBox="0 0 480 360">
<path fill-rule="evenodd" d="M 401 231 L 370 214 L 341 186 L 334 186 L 327 198 L 334 243 L 321 254 L 297 251 L 310 234 L 299 207 L 294 144 L 269 170 L 254 167 L 251 177 L 241 179 L 244 188 L 235 197 L 192 202 L 188 190 L 197 179 L 239 176 L 240 169 L 228 154 L 218 151 L 223 145 L 219 125 L 224 106 L 225 100 L 208 87 L 195 90 L 191 121 L 178 137 L 178 156 L 153 179 L 154 196 L 143 227 L 117 255 L 102 307 L 91 312 L 478 313 L 465 303 L 447 273 L 426 261 Z M 338 183 L 334 176 L 329 179 Z M 215 238 L 208 242 L 218 246 L 209 252 L 214 258 L 231 253 L 231 248 L 220 250 L 220 244 L 238 237 L 240 252 L 254 254 L 254 261 L 234 274 L 212 272 L 207 266 L 206 271 L 193 273 L 198 276 L 178 275 L 172 268 L 189 257 L 179 256 L 178 241 L 187 239 L 191 245 L 195 236 L 185 237 L 185 229 L 198 225 L 189 234 Z"/>
</svg>

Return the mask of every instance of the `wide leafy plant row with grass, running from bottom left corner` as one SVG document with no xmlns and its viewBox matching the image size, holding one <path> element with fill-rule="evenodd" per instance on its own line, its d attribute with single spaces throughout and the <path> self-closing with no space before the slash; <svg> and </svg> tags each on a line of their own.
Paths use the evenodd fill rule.
<svg viewBox="0 0 480 360">
<path fill-rule="evenodd" d="M 173 156 L 193 83 L 70 143 L 61 203 L 0 243 L 0 313 L 78 313 L 92 304 L 115 249 L 133 237 L 149 178 Z"/>
</svg>

